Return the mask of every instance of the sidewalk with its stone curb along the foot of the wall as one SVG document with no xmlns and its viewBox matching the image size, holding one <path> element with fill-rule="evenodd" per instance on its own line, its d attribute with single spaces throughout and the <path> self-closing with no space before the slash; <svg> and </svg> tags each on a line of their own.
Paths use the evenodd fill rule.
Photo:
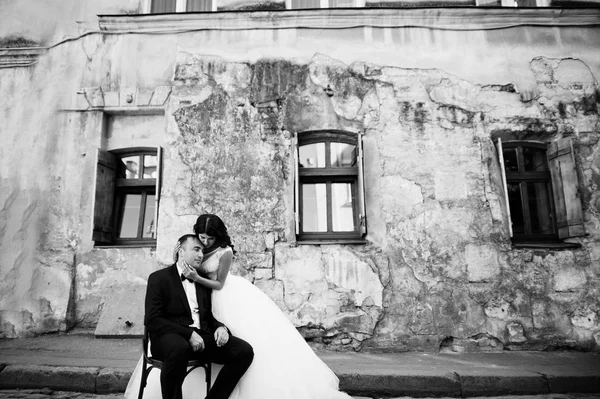
<svg viewBox="0 0 600 399">
<path fill-rule="evenodd" d="M 48 387 L 99 394 L 124 392 L 140 353 L 140 339 L 61 334 L 0 340 L 0 389 Z M 320 352 L 318 355 L 340 377 L 340 388 L 354 395 L 474 397 L 600 393 L 598 353 Z"/>
</svg>

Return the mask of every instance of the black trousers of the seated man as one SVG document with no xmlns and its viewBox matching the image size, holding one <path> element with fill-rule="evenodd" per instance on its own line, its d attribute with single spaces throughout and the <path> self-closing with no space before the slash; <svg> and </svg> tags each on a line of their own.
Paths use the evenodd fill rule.
<svg viewBox="0 0 600 399">
<path fill-rule="evenodd" d="M 198 331 L 197 331 L 198 332 Z M 163 399 L 182 399 L 181 385 L 185 379 L 188 360 L 203 360 L 222 364 L 215 383 L 206 399 L 227 399 L 254 359 L 252 346 L 246 341 L 229 336 L 229 341 L 218 347 L 213 334 L 200 334 L 204 350 L 194 352 L 187 339 L 169 333 L 152 340 L 152 355 L 163 361 L 160 385 Z"/>
</svg>

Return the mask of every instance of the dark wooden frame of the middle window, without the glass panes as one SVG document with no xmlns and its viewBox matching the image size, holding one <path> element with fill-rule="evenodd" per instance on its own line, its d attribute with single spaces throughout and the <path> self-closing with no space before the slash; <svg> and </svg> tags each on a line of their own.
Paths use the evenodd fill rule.
<svg viewBox="0 0 600 399">
<path fill-rule="evenodd" d="M 366 217 L 364 211 L 364 178 L 362 167 L 362 137 L 360 133 L 342 130 L 316 130 L 296 133 L 294 136 L 295 168 L 295 219 L 296 240 L 298 243 L 364 243 Z M 355 147 L 356 164 L 350 167 L 331 166 L 331 143 L 350 144 Z M 299 167 L 300 147 L 308 144 L 325 144 L 325 167 Z M 327 192 L 327 232 L 304 232 L 302 226 L 303 186 L 305 184 L 326 184 Z M 335 183 L 349 183 L 351 187 L 354 231 L 333 231 L 332 188 Z"/>
</svg>

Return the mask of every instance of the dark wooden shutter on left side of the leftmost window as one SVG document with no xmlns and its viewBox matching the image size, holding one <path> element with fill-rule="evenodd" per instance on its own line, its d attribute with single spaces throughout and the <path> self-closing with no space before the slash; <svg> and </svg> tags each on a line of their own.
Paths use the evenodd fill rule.
<svg viewBox="0 0 600 399">
<path fill-rule="evenodd" d="M 110 243 L 113 239 L 113 205 L 117 157 L 98 149 L 96 158 L 96 195 L 94 198 L 94 229 L 92 240 Z"/>
</svg>

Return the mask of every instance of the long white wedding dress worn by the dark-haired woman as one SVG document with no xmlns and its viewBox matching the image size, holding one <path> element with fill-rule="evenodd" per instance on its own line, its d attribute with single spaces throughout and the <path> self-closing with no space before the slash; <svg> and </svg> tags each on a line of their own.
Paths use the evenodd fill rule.
<svg viewBox="0 0 600 399">
<path fill-rule="evenodd" d="M 205 258 L 201 268 L 215 279 L 219 260 L 231 248 L 220 248 Z M 338 390 L 339 380 L 313 352 L 277 305 L 243 277 L 229 274 L 223 288 L 212 293 L 212 311 L 231 334 L 252 345 L 254 361 L 230 399 L 350 399 Z M 125 392 L 136 399 L 141 362 Z M 212 379 L 219 365 L 213 365 Z M 159 371 L 152 371 L 144 399 L 161 398 Z M 204 398 L 204 372 L 197 369 L 183 384 L 183 399 Z"/>
</svg>

